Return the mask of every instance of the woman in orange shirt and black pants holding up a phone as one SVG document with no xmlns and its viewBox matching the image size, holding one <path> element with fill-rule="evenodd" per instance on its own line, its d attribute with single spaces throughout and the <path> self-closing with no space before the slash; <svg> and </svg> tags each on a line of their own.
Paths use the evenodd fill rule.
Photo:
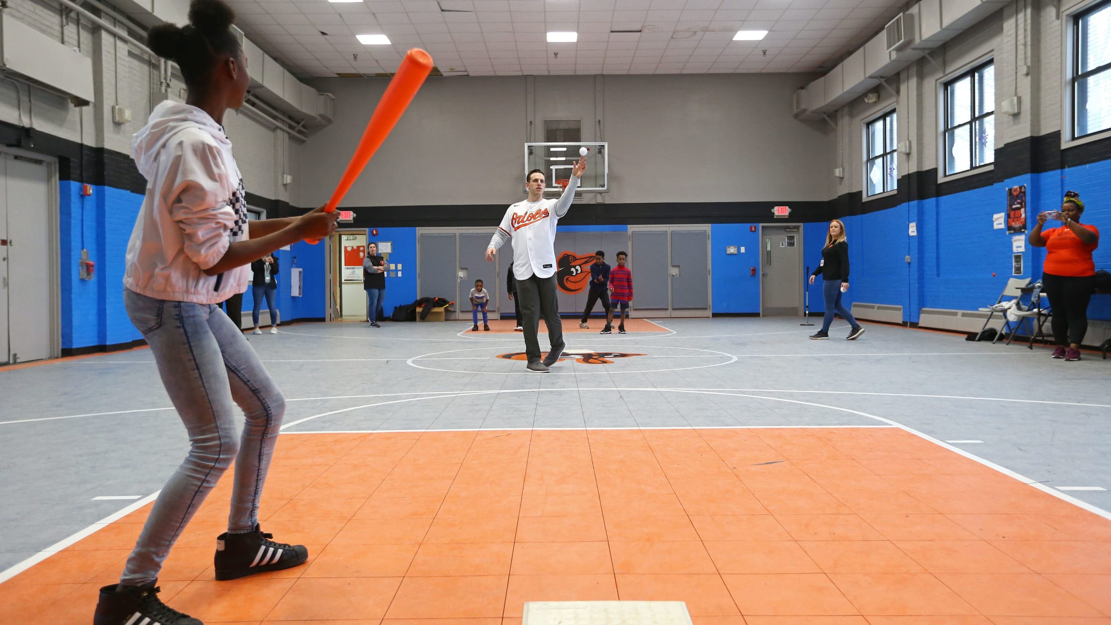
<svg viewBox="0 0 1111 625">
<path fill-rule="evenodd" d="M 1038 215 L 1038 225 L 1030 230 L 1030 245 L 1045 248 L 1042 265 L 1042 289 L 1049 296 L 1053 311 L 1054 358 L 1080 360 L 1080 341 L 1088 331 L 1088 301 L 1092 298 L 1095 262 L 1092 251 L 1100 245 L 1095 226 L 1081 224 L 1084 202 L 1080 194 L 1068 191 L 1059 212 Z M 1052 217 L 1063 226 L 1042 231 Z M 1065 347 L 1068 346 L 1068 347 Z"/>
</svg>

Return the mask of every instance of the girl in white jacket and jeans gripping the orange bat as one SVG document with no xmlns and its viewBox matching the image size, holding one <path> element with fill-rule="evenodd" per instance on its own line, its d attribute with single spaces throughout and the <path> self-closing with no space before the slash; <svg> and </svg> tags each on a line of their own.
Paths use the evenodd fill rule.
<svg viewBox="0 0 1111 625">
<path fill-rule="evenodd" d="M 216 578 L 288 568 L 308 558 L 258 523 L 259 499 L 286 401 L 219 302 L 246 290 L 250 262 L 336 230 L 338 212 L 247 220 L 243 181 L 223 132 L 242 106 L 247 60 L 221 0 L 192 0 L 189 24 L 158 26 L 148 43 L 181 68 L 187 103 L 164 101 L 133 139 L 147 192 L 128 244 L 123 301 L 150 344 L 190 450 L 154 502 L 120 583 L 100 589 L 94 625 L 202 625 L 158 598 L 162 562 L 234 460 L 228 532 L 217 538 Z M 246 424 L 236 405 L 246 415 Z M 240 435 L 240 428 L 242 434 Z"/>
</svg>

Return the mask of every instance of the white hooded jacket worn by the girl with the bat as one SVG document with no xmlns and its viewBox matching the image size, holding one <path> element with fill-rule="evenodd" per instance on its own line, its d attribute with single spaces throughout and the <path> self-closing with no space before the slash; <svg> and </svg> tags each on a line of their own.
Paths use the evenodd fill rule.
<svg viewBox="0 0 1111 625">
<path fill-rule="evenodd" d="M 218 304 L 247 290 L 250 265 L 204 275 L 248 238 L 243 180 L 231 141 L 203 110 L 164 101 L 131 141 L 147 196 L 128 242 L 123 285 L 171 301 Z"/>
</svg>

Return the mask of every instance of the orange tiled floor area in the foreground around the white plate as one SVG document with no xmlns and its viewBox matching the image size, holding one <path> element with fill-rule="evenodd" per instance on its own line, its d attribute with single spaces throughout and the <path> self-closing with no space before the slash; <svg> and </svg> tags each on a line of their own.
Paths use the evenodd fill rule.
<svg viewBox="0 0 1111 625">
<path fill-rule="evenodd" d="M 160 581 L 209 625 L 1111 624 L 1111 522 L 894 428 L 286 434 L 262 527 L 311 560 L 216 582 L 229 482 Z M 90 623 L 146 514 L 0 585 L 0 623 Z"/>
</svg>

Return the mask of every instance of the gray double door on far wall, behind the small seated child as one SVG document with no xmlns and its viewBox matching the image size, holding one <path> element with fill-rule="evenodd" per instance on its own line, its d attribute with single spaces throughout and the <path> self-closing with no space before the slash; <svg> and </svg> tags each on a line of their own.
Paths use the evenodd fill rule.
<svg viewBox="0 0 1111 625">
<path fill-rule="evenodd" d="M 513 252 L 507 245 L 493 262 L 487 262 L 486 250 L 492 235 L 493 228 L 418 228 L 417 297 L 442 297 L 454 301 L 448 309 L 448 318 L 470 319 L 468 296 L 474 288 L 474 280 L 482 280 L 482 288 L 490 291 L 487 312 L 491 319 L 497 319 L 504 281 L 502 268 L 509 267 L 502 262 L 512 262 Z"/>
</svg>

